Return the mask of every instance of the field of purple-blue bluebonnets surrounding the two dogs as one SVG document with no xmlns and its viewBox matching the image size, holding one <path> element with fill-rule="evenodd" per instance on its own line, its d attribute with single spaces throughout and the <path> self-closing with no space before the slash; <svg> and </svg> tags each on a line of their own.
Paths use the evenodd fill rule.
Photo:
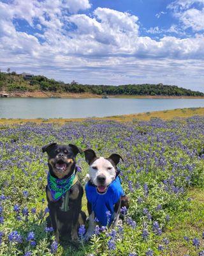
<svg viewBox="0 0 204 256">
<path fill-rule="evenodd" d="M 187 212 L 187 191 L 204 186 L 204 117 L 129 123 L 85 120 L 57 124 L 0 125 L 0 255 L 178 255 L 166 227 Z M 47 156 L 51 141 L 93 148 L 98 156 L 120 154 L 120 177 L 130 198 L 115 230 L 96 226 L 92 241 L 56 244 L 46 227 Z M 88 171 L 77 157 L 82 184 Z M 204 198 L 204 196 L 203 196 Z M 85 196 L 83 209 L 86 211 Z M 204 221 L 204 220 L 203 220 Z M 204 255 L 204 230 L 184 235 L 184 255 Z M 79 230 L 80 237 L 84 228 Z"/>
</svg>

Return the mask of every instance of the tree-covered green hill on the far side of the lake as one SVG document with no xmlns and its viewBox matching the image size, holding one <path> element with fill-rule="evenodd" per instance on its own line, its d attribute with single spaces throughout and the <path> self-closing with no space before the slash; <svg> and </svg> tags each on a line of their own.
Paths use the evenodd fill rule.
<svg viewBox="0 0 204 256">
<path fill-rule="evenodd" d="M 204 96 L 204 93 L 194 92 L 175 85 L 164 84 L 126 84 L 90 85 L 76 82 L 64 83 L 48 79 L 45 76 L 31 74 L 16 74 L 15 72 L 0 72 L 0 91 L 4 92 L 58 92 L 58 93 L 92 93 L 97 95 L 163 95 L 163 96 Z"/>
</svg>

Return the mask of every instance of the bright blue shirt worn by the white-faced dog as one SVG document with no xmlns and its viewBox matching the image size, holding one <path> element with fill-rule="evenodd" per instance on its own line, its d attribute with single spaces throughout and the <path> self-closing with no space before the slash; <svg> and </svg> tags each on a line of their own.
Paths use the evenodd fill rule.
<svg viewBox="0 0 204 256">
<path fill-rule="evenodd" d="M 104 194 L 99 194 L 96 186 L 88 182 L 85 185 L 85 193 L 87 201 L 91 204 L 92 211 L 94 211 L 99 224 L 101 226 L 110 226 L 113 221 L 114 205 L 119 201 L 121 196 L 124 196 L 120 178 L 116 177 Z"/>
</svg>

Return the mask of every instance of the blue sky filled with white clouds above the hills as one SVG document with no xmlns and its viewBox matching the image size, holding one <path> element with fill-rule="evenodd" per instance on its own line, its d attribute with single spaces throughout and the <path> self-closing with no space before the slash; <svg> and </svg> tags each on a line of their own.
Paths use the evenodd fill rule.
<svg viewBox="0 0 204 256">
<path fill-rule="evenodd" d="M 0 0 L 0 68 L 204 92 L 204 0 Z"/>
</svg>

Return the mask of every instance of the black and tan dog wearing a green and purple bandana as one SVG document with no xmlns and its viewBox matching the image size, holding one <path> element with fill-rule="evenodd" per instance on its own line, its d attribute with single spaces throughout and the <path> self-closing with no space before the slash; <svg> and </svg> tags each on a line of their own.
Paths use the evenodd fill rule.
<svg viewBox="0 0 204 256">
<path fill-rule="evenodd" d="M 46 187 L 50 220 L 56 241 L 78 241 L 78 227 L 85 223 L 82 209 L 84 190 L 76 175 L 76 156 L 82 151 L 75 145 L 50 143 L 42 148 L 48 154 Z"/>
</svg>

